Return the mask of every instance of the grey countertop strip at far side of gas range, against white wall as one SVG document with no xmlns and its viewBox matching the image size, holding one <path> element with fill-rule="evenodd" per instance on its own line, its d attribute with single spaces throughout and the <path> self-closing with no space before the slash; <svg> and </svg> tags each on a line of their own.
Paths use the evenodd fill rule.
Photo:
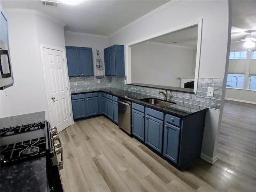
<svg viewBox="0 0 256 192">
<path fill-rule="evenodd" d="M 29 124 L 45 120 L 45 112 L 35 112 L 11 117 L 4 117 L 0 119 L 0 128 L 8 128 L 11 126 Z"/>
</svg>

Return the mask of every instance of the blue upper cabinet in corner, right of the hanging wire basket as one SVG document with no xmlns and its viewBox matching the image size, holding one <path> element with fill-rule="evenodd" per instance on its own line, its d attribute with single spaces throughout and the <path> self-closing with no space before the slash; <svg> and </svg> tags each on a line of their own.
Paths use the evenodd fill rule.
<svg viewBox="0 0 256 192">
<path fill-rule="evenodd" d="M 124 46 L 113 45 L 104 49 L 105 75 L 124 76 Z"/>
</svg>

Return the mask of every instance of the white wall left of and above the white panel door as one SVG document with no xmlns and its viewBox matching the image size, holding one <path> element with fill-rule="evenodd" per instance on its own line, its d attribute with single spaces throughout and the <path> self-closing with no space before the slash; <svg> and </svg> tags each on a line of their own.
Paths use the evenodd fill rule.
<svg viewBox="0 0 256 192">
<path fill-rule="evenodd" d="M 46 119 L 50 120 L 40 44 L 64 49 L 64 26 L 36 11 L 4 11 L 8 18 L 14 85 L 1 90 L 0 117 L 46 111 Z"/>
</svg>

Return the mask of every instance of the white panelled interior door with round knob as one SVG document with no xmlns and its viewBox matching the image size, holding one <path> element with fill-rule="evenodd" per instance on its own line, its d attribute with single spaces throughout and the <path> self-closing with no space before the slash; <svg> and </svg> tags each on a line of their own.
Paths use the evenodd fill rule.
<svg viewBox="0 0 256 192">
<path fill-rule="evenodd" d="M 60 132 L 71 124 L 63 52 L 49 48 L 44 48 L 43 51 L 51 125 L 56 126 Z"/>
</svg>

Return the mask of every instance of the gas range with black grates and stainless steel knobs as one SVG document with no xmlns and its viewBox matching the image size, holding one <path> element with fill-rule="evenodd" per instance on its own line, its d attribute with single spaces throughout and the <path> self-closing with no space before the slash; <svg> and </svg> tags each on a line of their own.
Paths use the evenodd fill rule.
<svg viewBox="0 0 256 192">
<path fill-rule="evenodd" d="M 46 157 L 50 191 L 63 191 L 59 175 L 63 153 L 56 127 L 51 128 L 47 121 L 24 124 L 0 129 L 0 137 L 1 167 Z"/>
</svg>

